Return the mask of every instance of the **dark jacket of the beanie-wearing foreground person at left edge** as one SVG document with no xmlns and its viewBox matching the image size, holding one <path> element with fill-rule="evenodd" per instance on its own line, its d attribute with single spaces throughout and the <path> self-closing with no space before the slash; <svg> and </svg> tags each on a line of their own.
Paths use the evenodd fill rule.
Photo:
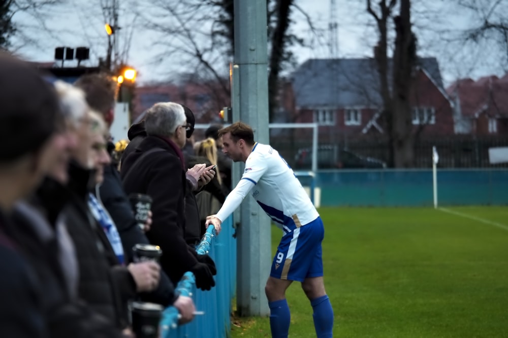
<svg viewBox="0 0 508 338">
<path fill-rule="evenodd" d="M 0 211 L 0 332 L 3 338 L 46 338 L 42 289 L 10 238 L 14 228 Z"/>
</svg>

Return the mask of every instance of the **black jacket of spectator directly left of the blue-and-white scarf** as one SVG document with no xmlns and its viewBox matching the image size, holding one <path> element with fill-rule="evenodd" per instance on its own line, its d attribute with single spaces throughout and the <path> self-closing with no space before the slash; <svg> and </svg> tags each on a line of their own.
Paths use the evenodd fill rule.
<svg viewBox="0 0 508 338">
<path fill-rule="evenodd" d="M 94 172 L 71 163 L 72 194 L 63 212 L 76 247 L 80 273 L 78 294 L 93 311 L 124 328 L 128 324 L 125 295 L 133 295 L 136 286 L 130 273 L 117 266 L 116 255 L 104 231 L 88 210 L 87 198 L 93 179 Z"/>
</svg>

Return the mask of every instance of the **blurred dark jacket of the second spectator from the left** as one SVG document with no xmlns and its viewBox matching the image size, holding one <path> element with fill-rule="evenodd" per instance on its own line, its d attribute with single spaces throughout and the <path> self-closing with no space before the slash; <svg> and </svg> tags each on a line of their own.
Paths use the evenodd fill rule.
<svg viewBox="0 0 508 338">
<path fill-rule="evenodd" d="M 66 282 L 59 260 L 61 247 L 55 224 L 49 222 L 48 215 L 61 210 L 68 194 L 61 185 L 60 190 L 48 189 L 48 185 L 58 186 L 51 180 L 46 180 L 38 191 L 40 198 L 32 199 L 30 204 L 18 203 L 13 219 L 17 225 L 16 238 L 22 244 L 23 252 L 36 271 L 39 285 L 44 290 L 41 299 L 49 334 L 52 338 L 119 337 L 120 330 L 77 299 Z M 53 194 L 46 195 L 46 192 Z M 38 207 L 35 203 L 38 203 Z M 43 205 L 48 207 L 48 212 L 43 213 Z"/>
</svg>

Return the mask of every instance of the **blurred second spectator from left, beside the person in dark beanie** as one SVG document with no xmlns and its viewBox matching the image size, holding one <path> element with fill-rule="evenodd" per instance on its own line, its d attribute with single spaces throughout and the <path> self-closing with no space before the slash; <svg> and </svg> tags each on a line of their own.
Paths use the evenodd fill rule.
<svg viewBox="0 0 508 338">
<path fill-rule="evenodd" d="M 67 103 L 60 101 L 65 113 L 69 113 Z M 82 103 L 85 109 L 84 101 Z M 77 144 L 73 117 L 66 116 L 65 125 L 51 138 L 53 160 L 47 172 L 62 181 L 67 180 L 69 157 Z M 19 202 L 13 213 L 18 224 L 16 238 L 23 243 L 24 252 L 44 289 L 42 304 L 49 334 L 52 338 L 118 337 L 120 330 L 77 296 L 76 252 L 65 224 L 58 219 L 69 198 L 72 196 L 63 185 L 47 177 L 36 195 L 29 202 Z"/>
</svg>

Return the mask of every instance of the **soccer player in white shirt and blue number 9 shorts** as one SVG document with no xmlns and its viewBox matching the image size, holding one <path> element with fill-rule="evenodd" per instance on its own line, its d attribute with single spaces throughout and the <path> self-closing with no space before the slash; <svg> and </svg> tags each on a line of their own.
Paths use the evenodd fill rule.
<svg viewBox="0 0 508 338">
<path fill-rule="evenodd" d="M 219 130 L 220 136 L 223 152 L 234 162 L 245 162 L 245 170 L 217 214 L 207 217 L 206 225 L 213 224 L 220 231 L 222 221 L 250 192 L 284 232 L 265 286 L 272 337 L 288 336 L 291 314 L 285 290 L 293 281 L 302 283 L 310 300 L 317 337 L 331 337 L 333 309 L 323 282 L 324 227 L 319 213 L 279 153 L 254 141 L 252 128 L 236 122 Z"/>
</svg>

